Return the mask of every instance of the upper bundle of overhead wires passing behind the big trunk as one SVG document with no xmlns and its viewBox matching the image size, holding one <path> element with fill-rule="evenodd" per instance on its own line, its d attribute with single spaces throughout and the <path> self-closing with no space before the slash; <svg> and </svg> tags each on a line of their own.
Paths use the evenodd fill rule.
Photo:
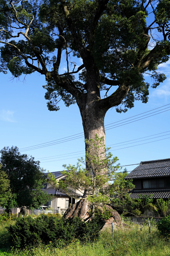
<svg viewBox="0 0 170 256">
<path fill-rule="evenodd" d="M 170 105 L 170 104 L 167 104 L 167 105 Z M 164 106 L 167 106 L 167 105 L 164 105 Z M 162 107 L 163 107 L 163 106 L 162 106 Z M 162 107 L 159 107 L 159 108 L 162 108 Z M 167 109 L 167 108 L 169 108 L 169 109 Z M 135 121 L 131 121 L 131 120 L 129 120 L 130 122 L 129 122 L 129 121 L 125 121 L 125 122 L 122 122 L 122 123 L 120 123 L 120 124 L 116 124 L 117 126 L 116 126 L 116 125 L 112 125 L 112 126 L 110 126 L 111 128 L 109 128 L 109 127 L 108 127 L 108 128 L 109 128 L 109 129 L 113 129 L 113 128 L 120 127 L 120 126 L 125 125 L 125 124 L 130 124 L 130 123 L 132 123 L 132 122 L 136 122 L 136 121 L 139 121 L 139 120 L 141 120 L 141 119 L 148 118 L 148 117 L 153 116 L 153 115 L 161 114 L 161 113 L 163 113 L 163 112 L 166 112 L 166 111 L 169 111 L 169 110 L 170 110 L 170 106 L 167 107 L 167 108 L 164 108 L 164 109 L 166 109 L 166 110 L 164 110 L 164 109 L 160 109 L 160 110 L 159 110 L 159 111 L 164 110 L 164 111 L 162 111 L 162 112 L 154 111 L 153 113 L 156 113 L 156 112 L 159 112 L 159 113 L 156 113 L 156 114 L 150 113 L 150 114 L 147 114 L 147 115 L 143 115 L 143 116 L 145 116 L 145 117 L 139 116 L 138 119 L 137 119 L 137 118 L 134 118 L 134 119 L 137 119 L 137 120 L 135 120 Z M 158 108 L 156 108 L 156 109 L 158 109 Z M 153 110 L 155 110 L 155 109 L 152 109 L 152 110 L 150 110 L 150 111 L 153 111 Z M 150 112 L 150 111 L 147 111 L 147 112 Z M 147 112 L 143 112 L 143 113 L 138 114 L 138 115 L 142 115 L 142 114 L 145 114 L 145 113 L 147 113 Z M 153 114 L 153 115 L 151 115 L 151 114 Z M 138 116 L 138 115 L 135 115 L 135 116 Z M 148 115 L 150 115 L 150 116 L 148 116 Z M 134 117 L 134 116 L 132 116 L 132 117 Z M 130 118 L 132 118 L 132 117 L 130 117 Z M 140 118 L 140 117 L 143 117 L 143 118 Z M 123 121 L 123 120 L 130 119 L 130 118 L 125 118 L 125 119 L 122 119 L 122 120 L 117 121 L 117 122 L 121 122 L 121 121 Z M 139 119 L 139 118 L 140 118 L 140 119 Z M 132 120 L 134 120 L 134 119 L 132 119 Z M 125 123 L 125 124 L 124 124 L 124 123 Z M 110 125 L 110 124 L 109 124 L 109 125 Z M 109 130 L 109 129 L 106 128 L 105 130 L 107 131 L 107 130 Z M 60 143 L 63 143 L 63 142 L 67 142 L 67 141 L 72 141 L 72 140 L 76 140 L 76 139 L 79 139 L 79 138 L 83 138 L 84 136 L 82 136 L 81 134 L 83 134 L 83 132 L 82 132 L 82 133 L 79 133 L 79 134 L 75 134 L 75 135 L 78 135 L 78 136 L 71 135 L 71 136 L 64 137 L 64 138 L 61 138 L 61 139 L 58 139 L 58 140 L 49 141 L 49 142 L 44 142 L 44 143 L 37 144 L 37 145 L 34 145 L 34 146 L 21 148 L 20 151 L 28 151 L 28 150 L 34 150 L 34 149 L 43 148 L 43 147 L 49 147 L 49 146 L 51 146 L 51 145 L 56 145 L 56 144 L 60 144 Z M 71 138 L 71 137 L 72 137 L 72 138 Z M 69 138 L 69 139 L 68 139 L 68 138 Z M 58 141 L 58 142 L 57 142 L 57 141 Z M 50 144 L 49 144 L 49 143 L 50 143 Z M 46 144 L 46 145 L 44 145 L 44 144 Z"/>
</svg>

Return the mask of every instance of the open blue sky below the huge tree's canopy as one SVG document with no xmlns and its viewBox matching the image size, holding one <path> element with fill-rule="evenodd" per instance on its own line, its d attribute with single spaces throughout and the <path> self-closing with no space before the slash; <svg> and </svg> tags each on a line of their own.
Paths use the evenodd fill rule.
<svg viewBox="0 0 170 256">
<path fill-rule="evenodd" d="M 78 64 L 81 65 L 81 63 Z M 66 63 L 63 62 L 61 68 L 64 70 L 65 66 Z M 149 102 L 142 104 L 142 102 L 136 101 L 135 107 L 129 109 L 125 114 L 116 113 L 115 108 L 110 109 L 105 116 L 106 127 L 110 123 L 113 123 L 112 125 L 114 125 L 114 122 L 117 122 L 115 124 L 119 124 L 123 122 L 118 122 L 122 119 L 130 118 L 131 116 L 170 104 L 170 61 L 163 64 L 160 68 L 161 71 L 166 74 L 167 79 L 156 89 L 150 89 Z M 16 79 L 11 80 L 10 73 L 7 75 L 1 73 L 0 77 L 0 148 L 11 147 L 13 145 L 22 149 L 83 132 L 81 116 L 76 105 L 72 105 L 68 108 L 61 102 L 59 111 L 48 111 L 46 100 L 44 99 L 45 89 L 42 88 L 45 84 L 44 76 L 34 73 L 27 76 L 25 80 L 24 77 L 21 77 L 20 81 L 16 81 Z M 146 80 L 150 81 L 149 76 L 146 76 Z M 170 105 L 154 110 L 160 110 L 159 112 L 165 111 L 160 114 L 132 122 L 135 121 L 135 119 L 129 124 L 122 126 L 117 125 L 118 127 L 116 128 L 110 127 L 112 129 L 106 130 L 106 146 L 116 146 L 111 148 L 110 151 L 113 156 L 119 158 L 121 165 L 138 164 L 140 161 L 170 158 L 170 132 L 168 132 L 170 130 L 170 111 L 166 111 L 170 109 L 168 107 L 170 107 Z M 154 111 L 146 114 L 150 114 Z M 127 121 L 131 119 L 127 119 Z M 125 121 L 126 120 L 124 120 L 124 122 Z M 162 132 L 165 133 L 159 134 Z M 147 137 L 150 135 L 154 136 Z M 162 135 L 165 136 L 158 137 Z M 71 138 L 72 137 L 70 137 L 70 139 Z M 136 140 L 138 138 L 143 139 Z M 146 140 L 148 138 L 153 139 Z M 134 141 L 130 140 L 136 140 L 136 143 L 132 143 Z M 154 142 L 147 143 L 150 141 Z M 125 143 L 118 144 L 120 142 Z M 52 172 L 63 170 L 62 164 L 76 163 L 78 157 L 84 156 L 84 148 L 84 138 L 78 138 L 76 140 L 35 150 L 21 150 L 21 152 L 32 155 L 35 157 L 35 160 L 40 160 L 41 167 Z M 127 166 L 128 171 L 133 170 L 135 166 L 136 165 Z"/>
</svg>

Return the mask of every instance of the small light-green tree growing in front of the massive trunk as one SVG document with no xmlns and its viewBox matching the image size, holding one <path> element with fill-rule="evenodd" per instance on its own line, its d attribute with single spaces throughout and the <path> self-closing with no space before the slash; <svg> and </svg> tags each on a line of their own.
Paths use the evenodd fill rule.
<svg viewBox="0 0 170 256">
<path fill-rule="evenodd" d="M 88 146 L 85 159 L 78 159 L 76 165 L 63 165 L 65 180 L 56 180 L 49 173 L 49 183 L 70 197 L 87 199 L 92 215 L 96 213 L 95 207 L 106 204 L 115 210 L 123 210 L 127 201 L 130 201 L 128 191 L 134 188 L 131 181 L 124 180 L 127 171 L 116 173 L 121 169 L 120 164 L 116 164 L 118 158 L 112 158 L 112 154 L 108 152 L 110 148 L 105 148 L 103 137 L 96 135 L 95 140 L 85 140 L 85 143 Z M 109 184 L 109 181 L 113 181 L 113 184 Z M 78 194 L 82 197 L 79 198 Z"/>
</svg>

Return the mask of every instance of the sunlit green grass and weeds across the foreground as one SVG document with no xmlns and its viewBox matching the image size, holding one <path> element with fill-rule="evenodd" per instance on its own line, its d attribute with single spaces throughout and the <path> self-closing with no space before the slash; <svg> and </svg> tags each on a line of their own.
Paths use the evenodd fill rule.
<svg viewBox="0 0 170 256">
<path fill-rule="evenodd" d="M 140 230 L 119 229 L 114 232 L 114 238 L 110 230 L 100 234 L 94 243 L 81 244 L 74 241 L 69 246 L 61 249 L 54 248 L 51 244 L 26 248 L 18 251 L 10 249 L 8 232 L 6 227 L 13 224 L 0 223 L 0 256 L 170 256 L 170 242 L 160 236 L 157 229 L 148 227 Z"/>
</svg>

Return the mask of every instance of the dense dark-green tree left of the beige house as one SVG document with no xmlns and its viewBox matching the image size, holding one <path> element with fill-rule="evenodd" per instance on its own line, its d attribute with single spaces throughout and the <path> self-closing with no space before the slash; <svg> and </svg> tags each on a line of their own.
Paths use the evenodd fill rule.
<svg viewBox="0 0 170 256">
<path fill-rule="evenodd" d="M 35 209 L 50 200 L 51 196 L 42 190 L 47 177 L 41 170 L 39 161 L 35 161 L 32 156 L 21 155 L 17 147 L 4 147 L 0 153 L 2 168 L 8 177 L 11 191 L 11 197 L 2 202 L 1 206 L 7 209 L 22 206 Z"/>
</svg>

